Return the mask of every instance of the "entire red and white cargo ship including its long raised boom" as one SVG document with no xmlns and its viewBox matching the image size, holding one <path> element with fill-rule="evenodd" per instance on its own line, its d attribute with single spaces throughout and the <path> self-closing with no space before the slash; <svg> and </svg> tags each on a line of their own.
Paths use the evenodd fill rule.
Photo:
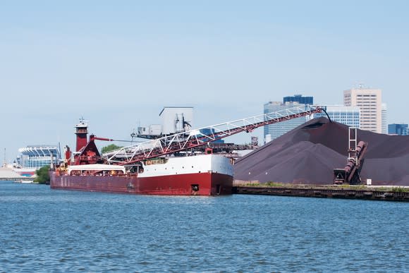
<svg viewBox="0 0 409 273">
<path fill-rule="evenodd" d="M 211 149 L 204 150 L 204 154 L 194 154 L 195 147 L 322 111 L 322 107 L 303 105 L 196 130 L 176 130 L 163 133 L 164 136 L 155 140 L 122 147 L 104 154 L 104 157 L 99 154 L 94 140 L 110 139 L 90 135 L 88 140 L 87 123 L 80 121 L 75 126 L 76 150 L 71 156 L 67 147 L 63 164 L 55 169 L 51 166 L 50 186 L 55 189 L 146 195 L 231 194 L 231 159 L 213 154 Z M 178 121 L 182 121 L 181 128 L 185 125 L 190 127 L 183 115 L 182 119 L 176 115 L 175 122 Z M 177 156 L 181 154 L 185 156 Z"/>
</svg>

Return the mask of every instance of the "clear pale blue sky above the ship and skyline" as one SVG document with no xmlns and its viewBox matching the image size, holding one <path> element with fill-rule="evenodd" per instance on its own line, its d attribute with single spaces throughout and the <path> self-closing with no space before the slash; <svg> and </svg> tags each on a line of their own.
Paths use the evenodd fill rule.
<svg viewBox="0 0 409 273">
<path fill-rule="evenodd" d="M 382 90 L 388 123 L 409 123 L 408 11 L 393 0 L 0 1 L 0 158 L 74 147 L 81 117 L 124 140 L 164 106 L 194 107 L 198 128 L 288 95 L 342 104 L 359 84 Z M 226 141 L 252 135 L 261 142 L 262 128 Z"/>
</svg>

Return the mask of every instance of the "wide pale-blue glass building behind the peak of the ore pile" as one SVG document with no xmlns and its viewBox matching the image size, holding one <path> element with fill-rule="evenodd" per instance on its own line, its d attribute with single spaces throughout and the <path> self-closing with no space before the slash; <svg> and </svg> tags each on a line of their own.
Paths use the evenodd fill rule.
<svg viewBox="0 0 409 273">
<path fill-rule="evenodd" d="M 346 107 L 343 105 L 324 106 L 331 121 L 343 123 L 350 127 L 360 128 L 360 107 Z M 326 117 L 324 112 L 313 114 L 310 119 Z"/>
</svg>

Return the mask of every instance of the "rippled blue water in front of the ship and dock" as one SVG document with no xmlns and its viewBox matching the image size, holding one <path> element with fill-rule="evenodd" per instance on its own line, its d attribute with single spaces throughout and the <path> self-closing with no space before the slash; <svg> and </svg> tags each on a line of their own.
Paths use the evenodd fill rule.
<svg viewBox="0 0 409 273">
<path fill-rule="evenodd" d="M 0 181 L 0 272 L 409 271 L 409 204 Z"/>
</svg>

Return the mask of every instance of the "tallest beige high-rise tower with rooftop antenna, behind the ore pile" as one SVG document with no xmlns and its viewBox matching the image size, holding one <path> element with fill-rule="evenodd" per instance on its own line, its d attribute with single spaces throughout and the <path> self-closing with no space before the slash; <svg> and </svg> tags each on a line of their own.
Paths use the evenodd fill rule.
<svg viewBox="0 0 409 273">
<path fill-rule="evenodd" d="M 343 92 L 343 104 L 347 107 L 360 107 L 360 128 L 382 133 L 381 90 L 353 88 Z"/>
</svg>

